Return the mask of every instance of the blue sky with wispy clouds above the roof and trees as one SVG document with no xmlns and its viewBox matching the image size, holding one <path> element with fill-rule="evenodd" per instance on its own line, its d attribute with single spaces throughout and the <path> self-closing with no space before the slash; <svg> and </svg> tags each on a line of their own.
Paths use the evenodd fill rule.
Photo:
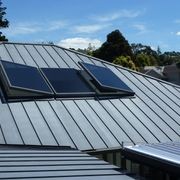
<svg viewBox="0 0 180 180">
<path fill-rule="evenodd" d="M 119 29 L 129 43 L 180 51 L 179 0 L 2 0 L 13 42 L 99 47 Z"/>
</svg>

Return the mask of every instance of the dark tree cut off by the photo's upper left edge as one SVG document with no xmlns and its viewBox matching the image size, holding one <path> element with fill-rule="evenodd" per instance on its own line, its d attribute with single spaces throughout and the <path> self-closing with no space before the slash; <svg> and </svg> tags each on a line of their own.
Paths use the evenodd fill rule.
<svg viewBox="0 0 180 180">
<path fill-rule="evenodd" d="M 9 26 L 9 21 L 7 19 L 4 19 L 4 15 L 6 15 L 6 7 L 2 7 L 2 2 L 0 0 L 0 29 L 7 28 Z M 2 35 L 2 32 L 0 32 L 0 41 L 7 41 L 7 38 Z"/>
</svg>

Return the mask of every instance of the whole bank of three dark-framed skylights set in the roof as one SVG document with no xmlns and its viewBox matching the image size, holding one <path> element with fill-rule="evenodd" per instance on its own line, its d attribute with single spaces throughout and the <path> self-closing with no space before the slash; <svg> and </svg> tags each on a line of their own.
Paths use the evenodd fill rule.
<svg viewBox="0 0 180 180">
<path fill-rule="evenodd" d="M 4 63 L 4 64 L 3 64 Z M 95 69 L 94 74 L 97 74 L 97 77 L 93 74 L 93 70 L 91 73 L 91 69 L 88 69 L 88 66 L 83 64 L 83 62 L 79 62 L 79 64 L 83 67 L 83 69 L 75 69 L 75 68 L 38 68 L 34 66 L 28 66 L 24 64 L 14 63 L 11 61 L 0 60 L 0 75 L 1 75 L 1 82 L 4 90 L 5 98 L 9 101 L 11 100 L 29 100 L 29 99 L 40 99 L 40 98 L 57 98 L 57 99 L 81 99 L 81 98 L 123 98 L 127 96 L 134 96 L 133 91 L 128 91 L 123 88 L 119 88 L 121 86 L 118 85 L 118 79 L 122 86 L 126 88 L 126 84 L 118 78 L 116 74 L 114 74 L 110 69 L 84 63 L 85 65 L 92 65 L 95 68 L 103 68 L 102 72 L 108 73 L 110 72 L 109 77 L 111 74 L 115 76 L 115 87 L 114 86 L 107 86 L 104 83 L 111 84 L 111 78 L 106 80 L 106 76 L 101 77 L 101 73 L 98 74 L 98 69 Z M 11 67 L 12 66 L 12 67 Z M 11 71 L 12 68 L 12 71 Z M 20 73 L 18 73 L 18 68 L 22 68 Z M 25 78 L 21 78 L 21 74 L 26 73 L 27 76 Z M 29 69 L 30 68 L 30 69 Z M 91 66 L 90 66 L 91 68 Z M 92 67 L 93 68 L 93 67 Z M 43 69 L 50 70 L 49 72 L 43 71 Z M 53 69 L 57 69 L 53 74 Z M 67 71 L 62 71 L 62 69 L 66 69 Z M 104 71 L 105 69 L 105 71 Z M 70 71 L 68 74 L 68 70 Z M 72 70 L 72 71 L 71 71 Z M 17 77 L 14 78 L 14 74 L 17 71 Z M 34 73 L 34 74 L 33 74 Z M 48 74 L 49 73 L 49 74 Z M 58 74 L 59 73 L 59 74 Z M 32 79 L 37 81 L 31 80 Z M 46 75 L 47 74 L 47 75 Z M 55 78 L 53 78 L 53 76 Z M 59 79 L 57 77 L 60 77 Z M 64 79 L 63 77 L 67 77 Z M 99 81 L 102 79 L 102 82 Z M 20 81 L 19 81 L 20 80 Z M 66 81 L 67 80 L 67 81 Z M 42 86 L 38 84 L 38 82 L 42 83 Z M 14 85 L 15 84 L 15 85 Z M 72 85 L 71 85 L 72 84 Z M 20 86 L 18 86 L 20 85 Z M 77 85 L 77 87 L 75 87 Z M 113 85 L 113 83 L 112 83 Z M 125 85 L 125 86 L 124 86 Z M 75 88 L 71 88 L 75 87 Z M 42 88 L 41 88 L 42 87 Z M 117 88 L 116 88 L 117 87 Z M 61 90 L 62 88 L 62 90 Z M 127 88 L 129 88 L 127 86 Z M 129 88 L 130 89 L 130 88 Z M 130 89 L 131 90 L 131 89 Z"/>
</svg>

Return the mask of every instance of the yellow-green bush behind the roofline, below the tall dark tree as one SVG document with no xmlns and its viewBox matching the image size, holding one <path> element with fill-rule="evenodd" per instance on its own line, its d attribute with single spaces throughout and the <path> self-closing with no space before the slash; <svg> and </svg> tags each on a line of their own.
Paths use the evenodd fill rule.
<svg viewBox="0 0 180 180">
<path fill-rule="evenodd" d="M 123 67 L 127 67 L 132 70 L 137 70 L 130 56 L 119 56 L 113 61 L 113 63 L 117 65 L 121 65 Z"/>
</svg>

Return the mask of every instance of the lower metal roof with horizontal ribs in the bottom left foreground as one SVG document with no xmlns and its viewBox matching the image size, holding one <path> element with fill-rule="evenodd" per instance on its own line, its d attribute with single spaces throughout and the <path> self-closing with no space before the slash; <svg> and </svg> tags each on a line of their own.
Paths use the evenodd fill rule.
<svg viewBox="0 0 180 180">
<path fill-rule="evenodd" d="M 114 165 L 73 149 L 0 147 L 0 179 L 130 180 Z"/>
</svg>

